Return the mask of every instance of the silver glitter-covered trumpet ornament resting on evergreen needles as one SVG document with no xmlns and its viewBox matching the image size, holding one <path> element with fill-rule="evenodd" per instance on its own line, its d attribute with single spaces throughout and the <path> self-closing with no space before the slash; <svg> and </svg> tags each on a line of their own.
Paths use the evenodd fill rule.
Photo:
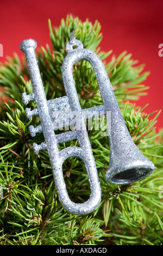
<svg viewBox="0 0 163 256">
<path fill-rule="evenodd" d="M 33 39 L 24 40 L 20 45 L 21 51 L 26 55 L 29 75 L 33 86 L 33 93 L 29 95 L 26 93 L 22 94 L 23 102 L 27 104 L 28 101 L 35 100 L 37 105 L 37 108 L 33 110 L 26 108 L 26 115 L 29 119 L 32 118 L 32 115 L 39 115 L 41 121 L 41 125 L 37 127 L 29 126 L 30 134 L 34 137 L 37 132 L 42 132 L 45 138 L 45 142 L 42 142 L 40 145 L 34 143 L 33 148 L 36 154 L 39 154 L 39 150 L 46 149 L 48 151 L 55 185 L 64 208 L 76 215 L 89 214 L 97 208 L 101 201 L 101 186 L 86 131 L 85 118 L 100 116 L 105 113 L 106 123 L 108 125 L 107 113 L 111 112 L 111 129 L 108 134 L 110 163 L 105 175 L 106 181 L 110 184 L 130 184 L 146 178 L 153 172 L 154 164 L 134 144 L 122 118 L 104 65 L 95 52 L 83 48 L 82 42 L 72 38 L 66 45 L 68 54 L 62 63 L 62 78 L 67 96 L 46 100 L 39 66 L 35 56 L 35 48 L 36 41 Z M 103 105 L 101 106 L 87 109 L 80 107 L 72 68 L 76 62 L 83 59 L 90 62 L 95 71 L 103 101 Z M 61 113 L 61 119 L 63 119 L 66 108 L 69 109 L 69 114 L 73 112 L 79 113 L 80 126 L 77 127 L 75 125 L 74 130 L 55 135 L 54 130 L 58 127 L 56 119 L 59 118 L 59 115 L 55 115 L 55 113 L 59 111 Z M 71 123 L 73 123 L 73 118 L 68 118 L 65 120 L 63 126 L 70 125 Z M 71 141 L 72 139 L 78 139 L 80 147 L 67 147 L 59 151 L 58 143 Z M 89 177 L 90 198 L 81 204 L 74 203 L 69 198 L 62 174 L 62 163 L 71 156 L 76 156 L 83 160 Z"/>
</svg>

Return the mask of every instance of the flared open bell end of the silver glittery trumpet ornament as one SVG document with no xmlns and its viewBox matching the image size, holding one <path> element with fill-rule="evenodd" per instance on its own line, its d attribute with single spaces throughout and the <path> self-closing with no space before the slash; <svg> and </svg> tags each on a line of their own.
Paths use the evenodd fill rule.
<svg viewBox="0 0 163 256">
<path fill-rule="evenodd" d="M 111 132 L 109 136 L 110 163 L 105 179 L 114 185 L 131 184 L 142 180 L 154 170 L 153 162 L 141 153 L 127 128 L 123 127 L 122 132 Z"/>
</svg>

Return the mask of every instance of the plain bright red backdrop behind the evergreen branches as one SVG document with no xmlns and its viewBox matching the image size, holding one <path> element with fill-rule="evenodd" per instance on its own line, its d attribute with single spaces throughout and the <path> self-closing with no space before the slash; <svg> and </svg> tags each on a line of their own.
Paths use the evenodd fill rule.
<svg viewBox="0 0 163 256">
<path fill-rule="evenodd" d="M 38 46 L 51 46 L 48 31 L 48 19 L 53 26 L 59 26 L 60 20 L 67 14 L 78 16 L 91 22 L 97 19 L 102 25 L 103 51 L 113 50 L 118 56 L 124 50 L 133 54 L 139 64 L 146 64 L 145 70 L 151 75 L 144 82 L 149 86 L 147 96 L 142 96 L 137 105 L 149 103 L 146 112 L 162 108 L 162 64 L 159 57 L 159 44 L 163 43 L 163 1 L 152 0 L 0 0 L 0 43 L 4 47 L 4 57 L 17 52 L 20 42 L 33 38 Z M 162 113 L 156 124 L 157 131 L 163 127 Z"/>
</svg>

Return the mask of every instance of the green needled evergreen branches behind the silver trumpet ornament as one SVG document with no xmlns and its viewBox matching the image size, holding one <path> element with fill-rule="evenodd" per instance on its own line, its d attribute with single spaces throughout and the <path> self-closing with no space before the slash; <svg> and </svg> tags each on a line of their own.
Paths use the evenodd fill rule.
<svg viewBox="0 0 163 256">
<path fill-rule="evenodd" d="M 134 184 L 114 186 L 105 181 L 109 166 L 109 141 L 101 131 L 88 131 L 95 156 L 102 201 L 88 216 L 74 216 L 62 208 L 54 185 L 47 151 L 35 155 L 32 144 L 40 144 L 43 136 L 32 138 L 29 125 L 39 125 L 39 118 L 26 118 L 22 93 L 32 93 L 26 60 L 17 54 L 1 64 L 1 112 L 0 112 L 0 245 L 161 245 L 163 241 L 163 202 L 160 191 L 163 185 L 162 132 L 155 132 L 155 117 L 149 120 L 133 101 L 146 94 L 148 87 L 142 82 L 149 75 L 143 65 L 123 52 L 117 58 L 99 48 L 102 40 L 101 26 L 96 21 L 82 22 L 68 15 L 59 28 L 49 21 L 52 50 L 46 45 L 37 50 L 47 99 L 65 95 L 61 77 L 61 64 L 66 56 L 65 45 L 70 33 L 101 57 L 114 88 L 133 141 L 141 152 L 155 164 L 148 178 Z M 23 40 L 23 39 L 22 39 Z M 85 60 L 76 63 L 74 81 L 82 108 L 102 104 L 97 81 L 91 65 Z M 29 103 L 35 107 L 35 102 Z M 94 124 L 93 124 L 94 125 Z M 60 131 L 58 131 L 60 132 Z M 76 145 L 76 141 L 59 144 L 60 150 Z M 90 188 L 83 162 L 75 157 L 63 164 L 67 192 L 77 203 L 89 198 Z"/>
</svg>

